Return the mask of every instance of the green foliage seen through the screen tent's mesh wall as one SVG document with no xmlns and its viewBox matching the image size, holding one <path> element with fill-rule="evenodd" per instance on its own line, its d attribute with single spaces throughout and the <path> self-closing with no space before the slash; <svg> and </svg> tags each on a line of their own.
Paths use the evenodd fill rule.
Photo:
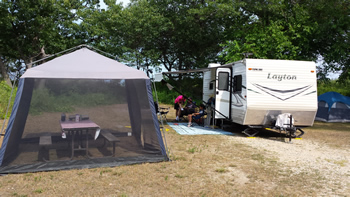
<svg viewBox="0 0 350 197">
<path fill-rule="evenodd" d="M 29 113 L 72 112 L 75 107 L 94 107 L 125 103 L 121 81 L 49 80 L 46 86 L 35 88 Z M 41 81 L 35 85 L 40 86 Z M 119 89 L 119 91 L 118 91 Z M 111 91 L 113 90 L 113 91 Z"/>
</svg>

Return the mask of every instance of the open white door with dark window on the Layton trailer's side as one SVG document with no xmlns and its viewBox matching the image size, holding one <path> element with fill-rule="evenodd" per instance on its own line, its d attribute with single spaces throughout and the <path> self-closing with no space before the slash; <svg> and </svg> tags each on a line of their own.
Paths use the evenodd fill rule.
<svg viewBox="0 0 350 197">
<path fill-rule="evenodd" d="M 215 97 L 215 109 L 219 112 L 215 112 L 216 119 L 224 119 L 230 117 L 230 81 L 231 81 L 231 69 L 230 68 L 218 68 L 216 70 L 216 97 Z"/>
</svg>

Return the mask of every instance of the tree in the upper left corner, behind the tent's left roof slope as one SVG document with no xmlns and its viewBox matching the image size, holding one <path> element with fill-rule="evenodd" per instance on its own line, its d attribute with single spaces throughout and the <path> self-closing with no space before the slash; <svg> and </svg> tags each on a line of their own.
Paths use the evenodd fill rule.
<svg viewBox="0 0 350 197">
<path fill-rule="evenodd" d="M 32 67 L 32 62 L 81 42 L 77 12 L 98 1 L 0 1 L 0 67 L 10 72 Z"/>
</svg>

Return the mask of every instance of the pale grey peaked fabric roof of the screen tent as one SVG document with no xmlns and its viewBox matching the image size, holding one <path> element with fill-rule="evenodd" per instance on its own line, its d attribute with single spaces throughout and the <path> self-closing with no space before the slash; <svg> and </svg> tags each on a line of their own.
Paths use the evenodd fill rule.
<svg viewBox="0 0 350 197">
<path fill-rule="evenodd" d="M 148 79 L 147 75 L 88 48 L 28 69 L 21 78 Z"/>
</svg>

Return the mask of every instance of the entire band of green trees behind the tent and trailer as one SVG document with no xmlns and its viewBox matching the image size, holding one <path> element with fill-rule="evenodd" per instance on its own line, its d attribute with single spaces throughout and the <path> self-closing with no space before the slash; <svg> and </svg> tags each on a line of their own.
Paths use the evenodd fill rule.
<svg viewBox="0 0 350 197">
<path fill-rule="evenodd" d="M 83 43 L 138 68 L 188 70 L 253 58 L 316 60 L 350 79 L 350 2 L 345 0 L 0 1 L 1 72 Z M 29 64 L 28 64 L 29 65 Z M 170 79 L 183 80 L 183 75 Z M 176 84 L 175 85 L 179 85 Z M 186 84 L 188 85 L 188 84 Z"/>
</svg>

